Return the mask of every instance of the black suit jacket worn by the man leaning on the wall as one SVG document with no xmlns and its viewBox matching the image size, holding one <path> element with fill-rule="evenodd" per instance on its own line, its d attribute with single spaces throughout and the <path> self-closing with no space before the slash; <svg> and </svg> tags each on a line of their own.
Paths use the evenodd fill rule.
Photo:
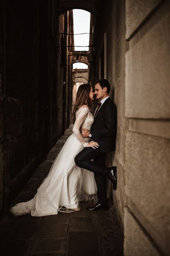
<svg viewBox="0 0 170 256">
<path fill-rule="evenodd" d="M 110 98 L 99 109 L 91 126 L 92 140 L 96 140 L 103 153 L 116 148 L 117 111 Z"/>
</svg>

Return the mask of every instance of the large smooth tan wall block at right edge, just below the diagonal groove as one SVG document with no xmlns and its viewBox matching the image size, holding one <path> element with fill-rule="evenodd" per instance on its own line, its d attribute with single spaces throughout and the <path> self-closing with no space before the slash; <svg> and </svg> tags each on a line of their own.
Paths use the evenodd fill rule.
<svg viewBox="0 0 170 256">
<path fill-rule="evenodd" d="M 170 2 L 163 17 L 126 53 L 125 115 L 170 118 Z"/>
</svg>

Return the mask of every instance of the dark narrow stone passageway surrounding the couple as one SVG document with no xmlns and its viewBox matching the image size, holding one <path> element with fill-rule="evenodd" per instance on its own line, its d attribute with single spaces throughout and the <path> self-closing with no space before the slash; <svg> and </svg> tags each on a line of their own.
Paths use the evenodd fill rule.
<svg viewBox="0 0 170 256">
<path fill-rule="evenodd" d="M 75 49 L 74 9 L 90 13 L 88 50 Z M 169 255 L 169 27 L 168 0 L 0 1 L 0 255 Z M 100 78 L 117 108 L 109 211 L 86 211 L 84 195 L 82 212 L 14 218 L 72 132 L 79 85 Z"/>
</svg>

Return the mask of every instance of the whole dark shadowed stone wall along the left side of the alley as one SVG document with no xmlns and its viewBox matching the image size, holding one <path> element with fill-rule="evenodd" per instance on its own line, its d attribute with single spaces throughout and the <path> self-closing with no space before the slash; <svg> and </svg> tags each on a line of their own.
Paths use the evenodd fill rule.
<svg viewBox="0 0 170 256">
<path fill-rule="evenodd" d="M 0 3 L 0 209 L 3 199 L 6 206 L 10 204 L 69 124 L 62 94 L 68 90 L 68 79 L 64 84 L 62 70 L 57 70 L 57 2 L 4 3 Z M 67 31 L 68 23 L 63 29 Z"/>
</svg>

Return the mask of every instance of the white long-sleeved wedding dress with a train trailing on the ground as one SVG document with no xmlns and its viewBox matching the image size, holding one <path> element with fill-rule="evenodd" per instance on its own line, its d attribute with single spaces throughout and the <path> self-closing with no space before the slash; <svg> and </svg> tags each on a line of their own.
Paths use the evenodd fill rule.
<svg viewBox="0 0 170 256">
<path fill-rule="evenodd" d="M 55 215 L 63 209 L 79 207 L 81 191 L 92 195 L 96 193 L 94 173 L 76 166 L 74 158 L 88 144 L 90 138 L 83 138 L 80 128 L 90 130 L 94 122 L 87 107 L 79 108 L 73 134 L 68 138 L 54 160 L 48 176 L 43 180 L 31 200 L 16 204 L 10 209 L 13 215 L 29 213 L 32 216 Z M 74 210 L 73 210 L 74 211 Z"/>
</svg>

